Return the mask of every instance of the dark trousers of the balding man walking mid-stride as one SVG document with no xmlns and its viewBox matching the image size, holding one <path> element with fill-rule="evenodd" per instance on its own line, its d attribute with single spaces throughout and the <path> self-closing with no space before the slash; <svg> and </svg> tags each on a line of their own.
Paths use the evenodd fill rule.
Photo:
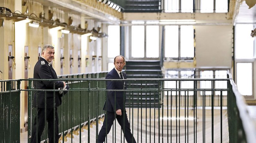
<svg viewBox="0 0 256 143">
<path fill-rule="evenodd" d="M 124 133 L 125 139 L 128 143 L 136 143 L 130 129 L 130 124 L 127 118 L 126 111 L 122 112 L 122 115 L 116 115 L 114 112 L 107 112 L 105 114 L 105 119 L 103 122 L 103 126 L 101 127 L 99 136 L 98 136 L 98 143 L 103 143 L 105 141 L 105 137 L 109 133 L 111 126 L 114 123 L 115 118 L 117 119 L 121 129 Z"/>
</svg>

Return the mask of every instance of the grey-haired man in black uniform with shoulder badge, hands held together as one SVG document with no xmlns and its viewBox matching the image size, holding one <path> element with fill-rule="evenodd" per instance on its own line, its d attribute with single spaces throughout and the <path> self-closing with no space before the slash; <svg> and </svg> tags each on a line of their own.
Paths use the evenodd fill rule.
<svg viewBox="0 0 256 143">
<path fill-rule="evenodd" d="M 35 79 L 57 79 L 55 70 L 52 68 L 51 61 L 54 59 L 54 47 L 45 45 L 42 49 L 42 57 L 37 61 L 34 67 Z M 59 89 L 69 88 L 63 81 L 33 81 L 34 89 Z M 54 96 L 55 95 L 55 96 Z M 45 116 L 48 122 L 48 138 L 50 143 L 58 143 L 58 113 L 57 107 L 61 105 L 61 97 L 58 91 L 36 91 L 33 96 L 33 107 L 37 108 L 37 117 L 34 119 L 31 143 L 41 141 L 41 135 L 45 126 Z M 45 102 L 46 98 L 46 102 Z M 55 103 L 54 103 L 55 98 Z M 45 111 L 46 110 L 46 111 Z M 46 114 L 45 114 L 46 112 Z M 55 112 L 55 127 L 54 127 L 54 112 Z M 38 126 L 38 127 L 37 127 Z M 54 133 L 55 128 L 55 133 Z M 38 131 L 38 132 L 37 132 Z M 55 136 L 55 140 L 54 140 Z"/>
</svg>

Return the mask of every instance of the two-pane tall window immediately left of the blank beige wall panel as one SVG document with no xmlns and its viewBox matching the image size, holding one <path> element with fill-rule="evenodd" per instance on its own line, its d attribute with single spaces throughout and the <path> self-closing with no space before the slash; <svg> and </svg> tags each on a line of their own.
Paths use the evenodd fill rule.
<svg viewBox="0 0 256 143">
<path fill-rule="evenodd" d="M 194 57 L 193 26 L 165 26 L 165 57 L 174 59 Z"/>
</svg>

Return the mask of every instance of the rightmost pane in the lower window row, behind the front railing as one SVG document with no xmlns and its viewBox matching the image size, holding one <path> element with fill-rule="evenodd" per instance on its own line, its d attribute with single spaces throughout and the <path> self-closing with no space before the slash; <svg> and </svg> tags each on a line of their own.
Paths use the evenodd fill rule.
<svg viewBox="0 0 256 143">
<path fill-rule="evenodd" d="M 216 70 L 215 78 L 227 78 L 226 70 Z M 227 89 L 227 81 L 215 81 L 216 89 Z M 227 91 L 222 91 L 222 95 L 227 95 Z M 221 95 L 221 91 L 215 91 L 215 95 Z"/>
</svg>

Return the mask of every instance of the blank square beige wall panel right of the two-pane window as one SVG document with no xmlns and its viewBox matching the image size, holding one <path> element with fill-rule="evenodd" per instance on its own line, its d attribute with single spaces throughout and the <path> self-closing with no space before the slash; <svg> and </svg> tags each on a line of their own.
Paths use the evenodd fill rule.
<svg viewBox="0 0 256 143">
<path fill-rule="evenodd" d="M 195 26 L 196 67 L 232 67 L 233 26 Z"/>
</svg>

